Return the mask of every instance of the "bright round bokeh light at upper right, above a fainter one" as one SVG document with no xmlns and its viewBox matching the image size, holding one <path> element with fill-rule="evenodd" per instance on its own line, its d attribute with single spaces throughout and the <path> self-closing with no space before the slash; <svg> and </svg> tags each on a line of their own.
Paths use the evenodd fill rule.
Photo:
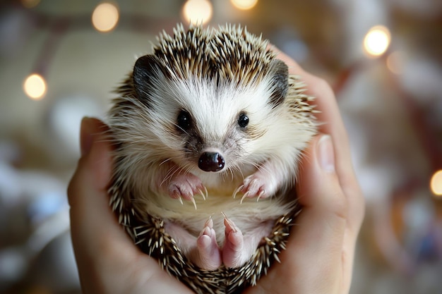
<svg viewBox="0 0 442 294">
<path fill-rule="evenodd" d="M 371 27 L 364 37 L 364 51 L 369 56 L 381 56 L 390 46 L 390 31 L 383 25 Z"/>
</svg>

